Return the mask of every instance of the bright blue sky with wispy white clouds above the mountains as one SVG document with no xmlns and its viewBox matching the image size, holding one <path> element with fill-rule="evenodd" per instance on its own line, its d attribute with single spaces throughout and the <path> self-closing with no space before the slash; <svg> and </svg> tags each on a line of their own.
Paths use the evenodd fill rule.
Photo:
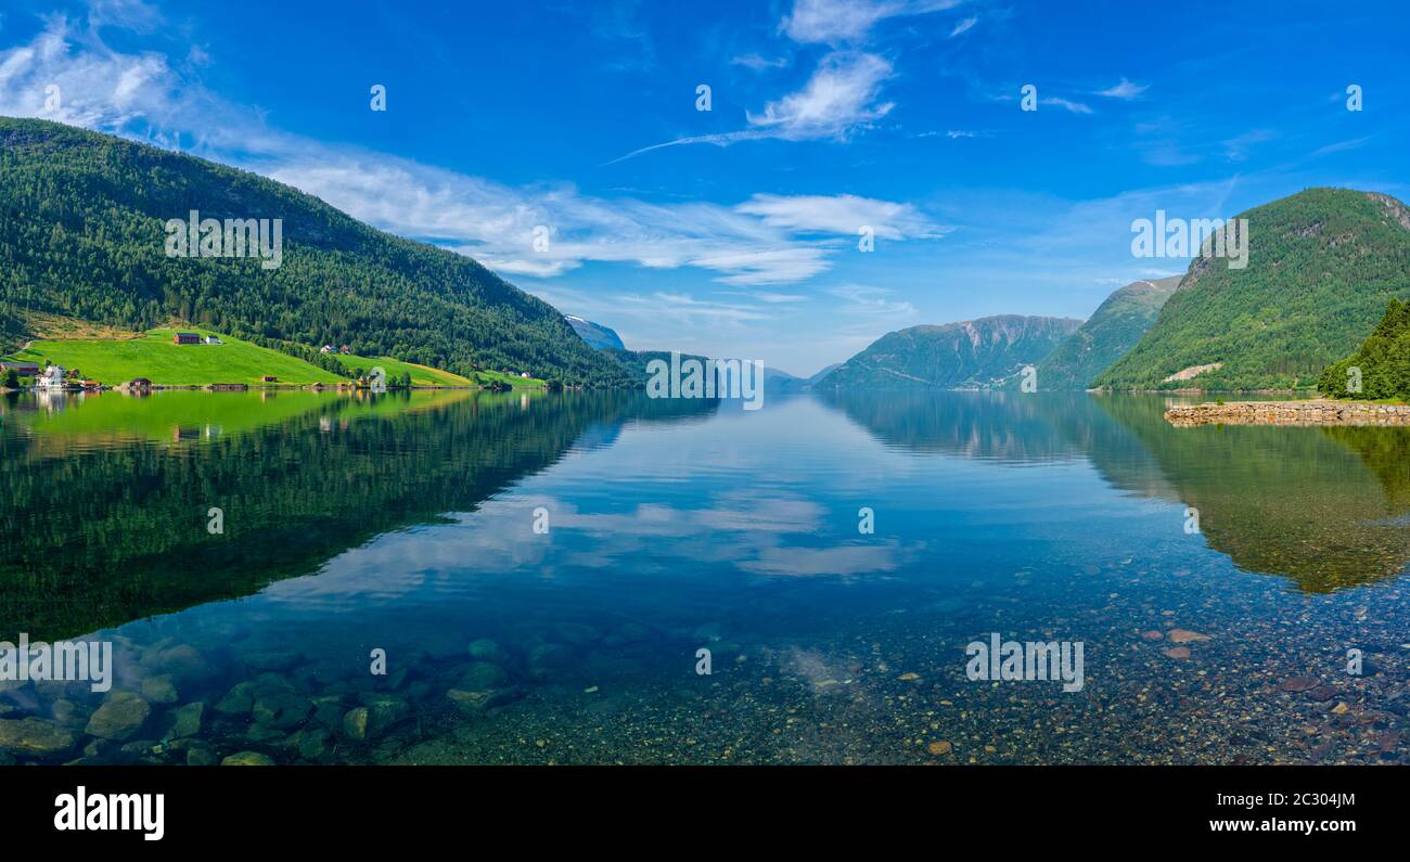
<svg viewBox="0 0 1410 862">
<path fill-rule="evenodd" d="M 4 0 L 0 114 L 258 170 L 632 348 L 808 375 L 1183 272 L 1131 255 L 1156 210 L 1410 197 L 1407 37 L 1389 1 Z"/>
</svg>

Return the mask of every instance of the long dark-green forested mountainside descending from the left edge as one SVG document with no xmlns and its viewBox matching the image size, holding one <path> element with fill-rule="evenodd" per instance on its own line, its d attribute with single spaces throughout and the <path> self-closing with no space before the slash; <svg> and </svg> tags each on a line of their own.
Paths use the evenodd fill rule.
<svg viewBox="0 0 1410 862">
<path fill-rule="evenodd" d="M 192 210 L 282 218 L 282 265 L 168 258 L 165 223 Z M 244 339 L 348 344 L 358 355 L 467 376 L 516 368 L 565 383 L 626 383 L 557 310 L 464 255 L 384 234 L 252 173 L 0 118 L 0 349 L 17 346 L 32 311 L 128 330 L 176 320 Z"/>
</svg>

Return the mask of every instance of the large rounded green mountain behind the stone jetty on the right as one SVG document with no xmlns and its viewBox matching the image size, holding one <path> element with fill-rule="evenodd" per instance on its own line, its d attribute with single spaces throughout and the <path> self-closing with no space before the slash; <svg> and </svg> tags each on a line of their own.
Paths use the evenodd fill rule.
<svg viewBox="0 0 1410 862">
<path fill-rule="evenodd" d="M 1393 197 L 1308 189 L 1239 217 L 1248 268 L 1196 258 L 1155 325 L 1094 386 L 1311 387 L 1371 334 L 1387 300 L 1410 296 L 1410 210 Z"/>
</svg>

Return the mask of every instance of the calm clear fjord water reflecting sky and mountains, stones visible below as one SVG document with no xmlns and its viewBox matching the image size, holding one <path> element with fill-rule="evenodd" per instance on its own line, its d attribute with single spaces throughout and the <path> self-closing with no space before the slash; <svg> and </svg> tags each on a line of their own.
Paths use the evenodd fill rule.
<svg viewBox="0 0 1410 862">
<path fill-rule="evenodd" d="M 1410 431 L 1166 406 L 11 396 L 0 762 L 1403 762 Z"/>
</svg>

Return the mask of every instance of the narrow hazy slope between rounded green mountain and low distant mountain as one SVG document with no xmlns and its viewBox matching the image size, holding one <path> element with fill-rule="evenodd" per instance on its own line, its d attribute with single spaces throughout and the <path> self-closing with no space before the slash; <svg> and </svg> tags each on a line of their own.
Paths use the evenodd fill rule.
<svg viewBox="0 0 1410 862">
<path fill-rule="evenodd" d="M 1180 285 L 1180 276 L 1132 282 L 1097 306 L 1087 323 L 1038 365 L 1038 389 L 1086 389 L 1129 351 Z"/>
</svg>

